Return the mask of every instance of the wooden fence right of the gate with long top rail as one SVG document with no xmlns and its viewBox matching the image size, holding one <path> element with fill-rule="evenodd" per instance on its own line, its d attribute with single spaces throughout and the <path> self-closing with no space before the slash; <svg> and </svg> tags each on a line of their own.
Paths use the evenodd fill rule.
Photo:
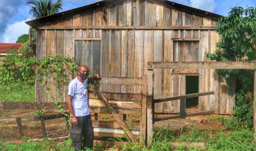
<svg viewBox="0 0 256 151">
<path fill-rule="evenodd" d="M 218 88 L 214 88 L 214 92 L 203 92 L 203 93 L 196 93 L 190 95 L 181 95 L 175 96 L 172 98 L 166 99 L 153 99 L 154 96 L 154 70 L 155 69 L 250 69 L 254 70 L 254 96 L 256 96 L 256 61 L 251 62 L 148 62 L 148 105 L 147 105 L 147 144 L 151 143 L 151 138 L 153 134 L 153 124 L 154 120 L 167 120 L 171 118 L 185 118 L 185 99 L 197 96 L 204 96 L 204 95 L 213 95 L 215 91 L 218 91 Z M 216 95 L 215 95 L 216 96 Z M 158 118 L 155 119 L 154 117 L 154 105 L 158 102 L 170 101 L 180 99 L 180 116 L 176 117 L 165 117 L 165 118 Z M 219 101 L 219 98 L 214 98 L 215 102 Z M 211 114 L 213 111 L 205 111 L 195 113 L 189 116 L 197 115 L 197 114 Z M 256 140 L 256 97 L 254 97 L 254 140 Z"/>
</svg>

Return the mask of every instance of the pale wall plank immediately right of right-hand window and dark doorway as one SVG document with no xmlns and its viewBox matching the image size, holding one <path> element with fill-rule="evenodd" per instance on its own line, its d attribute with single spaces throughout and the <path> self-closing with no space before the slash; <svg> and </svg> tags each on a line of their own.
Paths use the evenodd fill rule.
<svg viewBox="0 0 256 151">
<path fill-rule="evenodd" d="M 209 33 L 208 31 L 201 31 L 202 48 L 201 48 L 201 60 L 204 60 L 205 53 L 209 52 Z M 209 87 L 209 69 L 201 69 L 199 74 L 199 92 L 207 92 Z M 198 100 L 199 111 L 209 110 L 209 97 L 201 96 Z"/>
</svg>

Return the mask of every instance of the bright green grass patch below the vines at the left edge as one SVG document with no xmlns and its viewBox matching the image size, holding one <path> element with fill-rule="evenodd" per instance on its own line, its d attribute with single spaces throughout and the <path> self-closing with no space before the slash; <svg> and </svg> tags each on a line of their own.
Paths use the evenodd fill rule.
<svg viewBox="0 0 256 151">
<path fill-rule="evenodd" d="M 0 101 L 34 102 L 35 86 L 18 82 L 0 85 Z"/>
</svg>

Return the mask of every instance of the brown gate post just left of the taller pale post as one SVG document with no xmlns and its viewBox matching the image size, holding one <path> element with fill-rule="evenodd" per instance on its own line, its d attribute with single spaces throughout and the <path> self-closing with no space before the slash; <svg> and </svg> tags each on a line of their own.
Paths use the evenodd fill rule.
<svg viewBox="0 0 256 151">
<path fill-rule="evenodd" d="M 148 78 L 142 75 L 143 84 L 141 85 L 141 120 L 140 120 L 140 144 L 146 144 L 147 137 L 147 94 Z"/>
</svg>

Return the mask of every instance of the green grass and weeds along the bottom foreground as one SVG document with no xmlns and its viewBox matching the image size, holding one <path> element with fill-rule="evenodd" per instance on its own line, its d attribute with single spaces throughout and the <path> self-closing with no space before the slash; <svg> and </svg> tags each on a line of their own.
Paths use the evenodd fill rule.
<svg viewBox="0 0 256 151">
<path fill-rule="evenodd" d="M 210 131 L 197 130 L 193 128 L 188 133 L 182 133 L 174 137 L 168 130 L 161 130 L 154 134 L 152 144 L 148 147 L 140 146 L 138 143 L 127 143 L 119 148 L 119 151 L 171 151 L 173 147 L 168 142 L 203 142 L 206 144 L 206 151 L 255 151 L 256 144 L 253 140 L 251 129 L 233 130 L 230 132 L 219 132 L 216 136 L 211 136 Z M 117 139 L 119 140 L 119 139 Z M 116 141 L 117 141 L 116 140 Z M 120 141 L 120 140 L 119 140 Z M 73 151 L 72 141 L 66 140 L 56 143 L 45 139 L 40 142 L 25 142 L 22 144 L 8 144 L 0 140 L 0 151 Z M 97 148 L 103 148 L 97 146 Z M 116 150 L 112 148 L 111 150 Z M 173 151 L 202 151 L 200 148 L 179 146 Z"/>
</svg>

